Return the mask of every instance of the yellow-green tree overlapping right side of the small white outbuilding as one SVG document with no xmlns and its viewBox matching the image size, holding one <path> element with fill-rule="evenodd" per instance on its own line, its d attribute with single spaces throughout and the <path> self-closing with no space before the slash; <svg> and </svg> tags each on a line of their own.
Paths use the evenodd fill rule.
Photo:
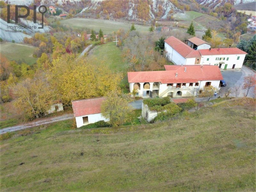
<svg viewBox="0 0 256 192">
<path fill-rule="evenodd" d="M 127 95 L 118 95 L 115 91 L 108 94 L 107 100 L 101 105 L 101 114 L 109 118 L 109 123 L 113 126 L 124 124 L 132 111 L 129 106 L 131 97 Z"/>
</svg>

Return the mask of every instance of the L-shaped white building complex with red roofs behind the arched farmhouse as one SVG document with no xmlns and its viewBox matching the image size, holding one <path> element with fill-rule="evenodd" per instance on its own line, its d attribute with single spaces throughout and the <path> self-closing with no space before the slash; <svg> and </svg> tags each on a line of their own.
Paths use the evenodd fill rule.
<svg viewBox="0 0 256 192">
<path fill-rule="evenodd" d="M 164 41 L 166 57 L 176 65 L 217 65 L 221 70 L 240 70 L 247 54 L 238 48 L 211 49 L 210 44 L 197 37 L 190 38 L 188 45 L 174 36 Z"/>
</svg>

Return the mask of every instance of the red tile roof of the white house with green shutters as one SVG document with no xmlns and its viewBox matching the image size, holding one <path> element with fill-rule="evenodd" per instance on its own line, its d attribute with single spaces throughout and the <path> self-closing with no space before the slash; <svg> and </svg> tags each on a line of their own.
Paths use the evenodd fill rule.
<svg viewBox="0 0 256 192">
<path fill-rule="evenodd" d="M 247 54 L 247 52 L 242 51 L 238 48 L 215 48 L 211 49 L 200 49 L 198 50 L 201 55 L 237 55 L 237 54 Z"/>
</svg>

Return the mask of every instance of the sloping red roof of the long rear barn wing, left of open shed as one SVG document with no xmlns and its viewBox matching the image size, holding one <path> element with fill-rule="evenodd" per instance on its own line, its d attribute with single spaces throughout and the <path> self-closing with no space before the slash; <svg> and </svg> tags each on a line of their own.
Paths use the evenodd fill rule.
<svg viewBox="0 0 256 192">
<path fill-rule="evenodd" d="M 170 36 L 164 41 L 184 58 L 201 57 L 198 50 L 192 49 L 187 44 L 183 43 L 182 41 L 180 41 L 174 36 Z"/>
</svg>

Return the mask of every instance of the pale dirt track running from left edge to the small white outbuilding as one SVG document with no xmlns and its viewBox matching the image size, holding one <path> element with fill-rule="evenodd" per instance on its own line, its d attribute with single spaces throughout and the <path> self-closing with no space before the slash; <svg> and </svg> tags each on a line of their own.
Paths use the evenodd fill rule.
<svg viewBox="0 0 256 192">
<path fill-rule="evenodd" d="M 36 126 L 39 126 L 39 125 L 44 125 L 44 124 L 53 123 L 53 122 L 57 122 L 57 121 L 64 121 L 64 120 L 72 119 L 72 118 L 74 118 L 73 113 L 72 114 L 65 114 L 63 116 L 58 116 L 58 117 L 44 118 L 44 119 L 37 120 L 37 121 L 34 121 L 34 122 L 30 122 L 30 123 L 27 123 L 27 124 L 15 125 L 15 126 L 12 126 L 12 127 L 7 127 L 7 128 L 4 128 L 4 129 L 1 129 L 0 134 L 6 133 L 6 132 L 18 131 L 18 130 L 26 129 L 26 128 L 30 128 L 30 127 L 36 127 Z"/>
</svg>

